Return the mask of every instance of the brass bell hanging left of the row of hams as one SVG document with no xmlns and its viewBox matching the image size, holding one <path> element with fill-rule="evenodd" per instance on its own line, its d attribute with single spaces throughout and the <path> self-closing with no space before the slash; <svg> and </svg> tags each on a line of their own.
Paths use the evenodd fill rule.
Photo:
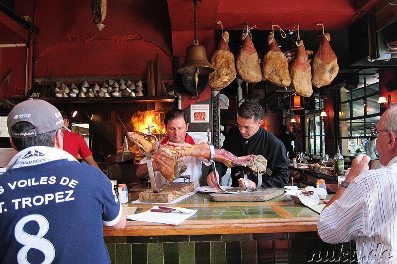
<svg viewBox="0 0 397 264">
<path fill-rule="evenodd" d="M 208 62 L 205 47 L 199 45 L 199 42 L 193 42 L 193 45 L 186 49 L 186 59 L 178 72 L 185 75 L 193 75 L 199 69 L 199 75 L 210 74 L 215 69 Z"/>
</svg>

